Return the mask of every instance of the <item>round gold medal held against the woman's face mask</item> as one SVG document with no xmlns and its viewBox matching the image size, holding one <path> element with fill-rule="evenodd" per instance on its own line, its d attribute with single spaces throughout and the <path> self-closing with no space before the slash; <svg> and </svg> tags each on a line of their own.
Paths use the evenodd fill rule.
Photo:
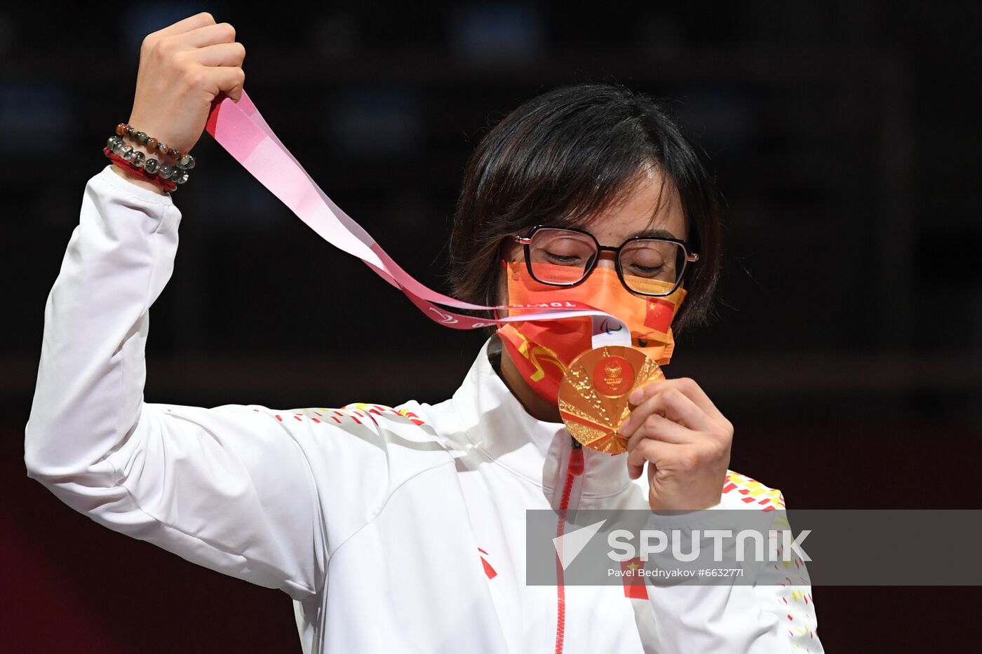
<svg viewBox="0 0 982 654">
<path fill-rule="evenodd" d="M 657 363 L 633 348 L 589 350 L 573 359 L 560 382 L 560 415 L 584 447 L 610 455 L 627 452 L 627 438 L 617 432 L 630 415 L 627 396 L 664 377 Z"/>
</svg>

